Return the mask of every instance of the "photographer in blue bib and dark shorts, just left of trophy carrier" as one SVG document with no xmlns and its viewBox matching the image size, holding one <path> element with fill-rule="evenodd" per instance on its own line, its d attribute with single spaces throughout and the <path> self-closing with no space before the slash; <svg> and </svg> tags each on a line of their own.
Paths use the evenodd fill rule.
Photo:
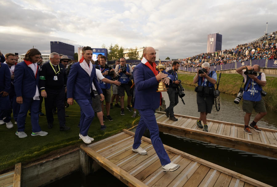
<svg viewBox="0 0 277 187">
<path fill-rule="evenodd" d="M 120 106 L 121 106 L 121 115 L 125 115 L 124 113 L 124 96 L 125 91 L 128 96 L 127 98 L 127 109 L 129 112 L 132 112 L 131 109 L 131 87 L 128 82 L 130 80 L 130 76 L 132 75 L 132 67 L 129 64 L 126 64 L 126 59 L 124 57 L 120 58 L 120 64 L 115 67 L 115 73 L 118 75 L 118 81 L 121 85 L 118 87 L 118 95 L 120 96 Z"/>
</svg>

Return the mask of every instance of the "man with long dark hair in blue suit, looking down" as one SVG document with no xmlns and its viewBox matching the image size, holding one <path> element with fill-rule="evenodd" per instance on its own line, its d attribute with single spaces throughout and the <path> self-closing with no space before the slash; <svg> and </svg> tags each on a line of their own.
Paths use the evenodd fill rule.
<svg viewBox="0 0 277 187">
<path fill-rule="evenodd" d="M 39 112 L 39 72 L 37 61 L 41 53 L 37 49 L 30 49 L 24 57 L 24 61 L 18 63 L 14 69 L 14 90 L 16 102 L 20 104 L 17 116 L 17 131 L 15 135 L 20 138 L 27 137 L 24 132 L 25 119 L 28 110 L 31 109 L 31 136 L 46 136 L 48 133 L 41 130 L 38 125 Z"/>
</svg>

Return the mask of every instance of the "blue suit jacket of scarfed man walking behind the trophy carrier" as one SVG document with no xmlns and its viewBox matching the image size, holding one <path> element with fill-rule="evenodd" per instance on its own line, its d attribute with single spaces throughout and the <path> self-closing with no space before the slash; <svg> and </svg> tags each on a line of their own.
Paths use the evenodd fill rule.
<svg viewBox="0 0 277 187">
<path fill-rule="evenodd" d="M 84 62 L 86 63 L 86 62 Z M 74 63 L 70 67 L 69 75 L 67 78 L 67 98 L 74 99 L 91 99 L 95 97 L 92 90 L 92 82 L 98 92 L 103 94 L 97 76 L 95 73 L 95 66 L 93 65 L 90 76 L 80 66 L 80 62 Z"/>
</svg>

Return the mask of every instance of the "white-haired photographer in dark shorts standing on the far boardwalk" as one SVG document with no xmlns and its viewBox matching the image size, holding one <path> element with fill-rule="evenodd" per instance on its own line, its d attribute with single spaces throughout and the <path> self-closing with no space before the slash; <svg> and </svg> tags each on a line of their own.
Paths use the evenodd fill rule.
<svg viewBox="0 0 277 187">
<path fill-rule="evenodd" d="M 197 74 L 193 78 L 193 83 L 198 84 L 198 86 L 195 87 L 195 92 L 197 92 L 196 101 L 198 112 L 200 112 L 200 117 L 196 124 L 202 129 L 203 125 L 201 121 L 203 121 L 203 131 L 206 132 L 208 132 L 207 114 L 211 113 L 214 104 L 213 91 L 215 90 L 217 80 L 216 72 L 210 70 L 210 64 L 205 62 L 202 64 L 202 69 L 197 70 Z"/>
</svg>

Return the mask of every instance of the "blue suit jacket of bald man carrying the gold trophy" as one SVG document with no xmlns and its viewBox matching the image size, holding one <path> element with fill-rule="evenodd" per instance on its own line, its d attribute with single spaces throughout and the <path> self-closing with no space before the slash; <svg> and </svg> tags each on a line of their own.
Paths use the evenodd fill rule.
<svg viewBox="0 0 277 187">
<path fill-rule="evenodd" d="M 164 74 L 168 74 L 163 71 Z M 139 63 L 134 70 L 134 83 L 135 83 L 135 109 L 157 109 L 160 105 L 160 93 L 156 92 L 159 82 L 157 81 L 153 71 Z M 173 76 L 168 74 L 168 77 L 173 79 Z"/>
</svg>

